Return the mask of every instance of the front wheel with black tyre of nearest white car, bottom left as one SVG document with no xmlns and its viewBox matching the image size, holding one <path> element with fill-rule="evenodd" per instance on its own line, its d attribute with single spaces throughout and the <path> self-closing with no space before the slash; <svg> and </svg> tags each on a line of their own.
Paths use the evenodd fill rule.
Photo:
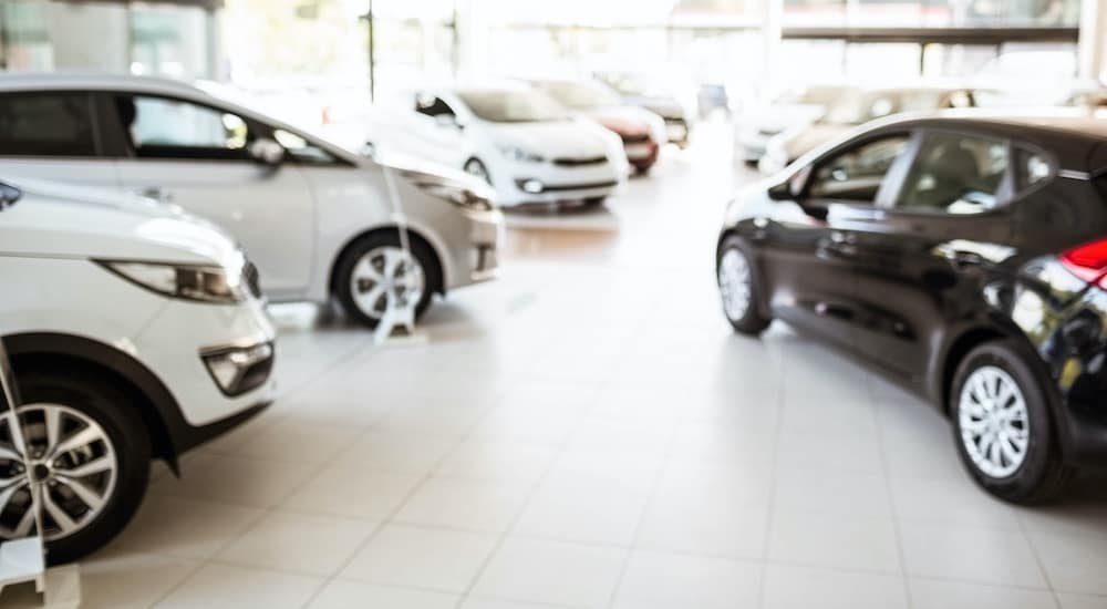
<svg viewBox="0 0 1107 609">
<path fill-rule="evenodd" d="M 133 399 L 116 389 L 117 383 L 94 372 L 34 368 L 17 370 L 17 378 L 23 400 L 20 417 L 30 452 L 44 451 L 49 455 L 51 446 L 75 443 L 69 451 L 44 458 L 37 474 L 48 481 L 43 487 L 44 500 L 50 502 L 43 509 L 46 560 L 51 565 L 70 562 L 106 545 L 138 509 L 149 483 L 149 434 Z M 46 412 L 58 413 L 55 421 L 60 422 L 52 444 L 46 433 Z M 90 433 L 94 440 L 82 440 Z M 114 471 L 101 469 L 105 463 Z M 92 473 L 63 475 L 79 467 Z M 76 485 L 83 497 L 72 491 Z M 84 497 L 102 505 L 94 508 Z M 69 525 L 54 516 L 59 509 L 70 518 Z M 21 519 L 12 512 L 4 510 L 4 515 L 10 518 L 3 523 L 7 535 L 12 533 L 11 525 Z"/>
</svg>

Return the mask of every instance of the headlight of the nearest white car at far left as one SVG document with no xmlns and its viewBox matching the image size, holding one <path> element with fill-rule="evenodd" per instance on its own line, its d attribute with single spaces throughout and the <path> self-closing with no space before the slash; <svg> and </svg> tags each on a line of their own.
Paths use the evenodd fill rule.
<svg viewBox="0 0 1107 609">
<path fill-rule="evenodd" d="M 132 283 L 180 300 L 228 304 L 246 299 L 242 268 L 97 260 L 105 269 Z"/>
</svg>

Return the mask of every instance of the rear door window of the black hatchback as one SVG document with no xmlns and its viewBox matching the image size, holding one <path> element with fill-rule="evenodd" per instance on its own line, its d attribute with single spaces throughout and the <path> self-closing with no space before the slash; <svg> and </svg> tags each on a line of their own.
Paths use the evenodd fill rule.
<svg viewBox="0 0 1107 609">
<path fill-rule="evenodd" d="M 897 209 L 980 214 L 999 207 L 1010 164 L 1005 142 L 930 134 L 896 200 Z"/>
</svg>

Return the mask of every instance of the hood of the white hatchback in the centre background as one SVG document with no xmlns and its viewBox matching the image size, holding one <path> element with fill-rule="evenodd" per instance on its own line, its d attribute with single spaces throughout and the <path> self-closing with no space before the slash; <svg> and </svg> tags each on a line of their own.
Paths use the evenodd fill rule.
<svg viewBox="0 0 1107 609">
<path fill-rule="evenodd" d="M 495 124 L 489 132 L 497 145 L 517 146 L 547 158 L 589 158 L 608 153 L 599 127 L 581 121 Z"/>
</svg>

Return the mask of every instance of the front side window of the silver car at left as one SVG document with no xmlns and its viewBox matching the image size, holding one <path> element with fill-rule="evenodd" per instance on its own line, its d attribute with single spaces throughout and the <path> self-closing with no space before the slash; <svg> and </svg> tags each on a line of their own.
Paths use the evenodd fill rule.
<svg viewBox="0 0 1107 609">
<path fill-rule="evenodd" d="M 116 99 L 141 158 L 242 158 L 249 128 L 240 116 L 193 102 L 146 95 Z"/>
</svg>

